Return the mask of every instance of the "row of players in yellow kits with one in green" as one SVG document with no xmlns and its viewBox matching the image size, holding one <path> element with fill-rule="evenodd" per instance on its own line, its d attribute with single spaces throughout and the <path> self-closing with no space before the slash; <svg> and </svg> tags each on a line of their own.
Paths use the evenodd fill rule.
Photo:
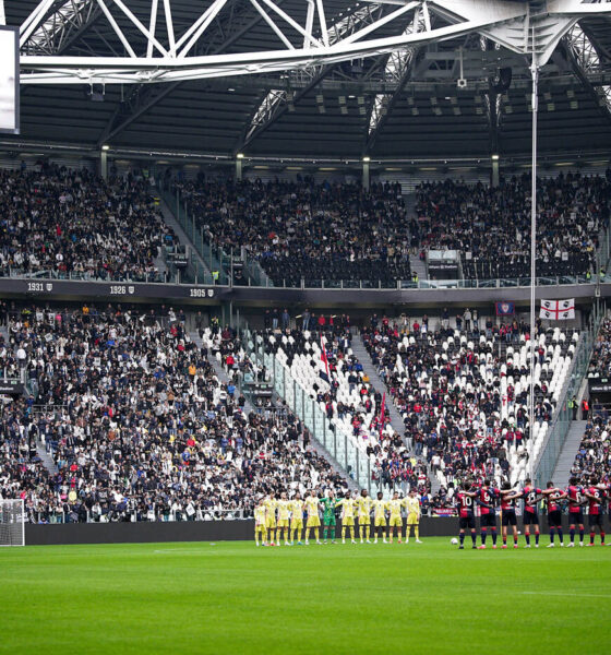
<svg viewBox="0 0 611 655">
<path fill-rule="evenodd" d="M 372 499 L 367 489 L 360 495 L 347 492 L 344 498 L 337 498 L 332 490 L 324 495 L 309 491 L 306 499 L 296 493 L 289 499 L 286 491 L 276 499 L 274 493 L 261 499 L 254 509 L 254 540 L 256 546 L 280 546 L 283 539 L 285 546 L 296 543 L 310 545 L 310 534 L 313 532 L 316 544 L 321 541 L 321 516 L 323 515 L 323 539 L 324 544 L 331 539 L 335 544 L 337 532 L 337 513 L 342 519 L 342 543 L 346 543 L 349 535 L 350 541 L 356 544 L 356 527 L 358 527 L 361 544 L 378 543 L 382 537 L 384 543 L 393 543 L 393 537 L 398 537 L 402 543 L 403 511 L 407 513 L 407 526 L 405 543 L 409 543 L 409 536 L 414 529 L 416 543 L 420 541 L 420 500 L 416 491 L 409 492 L 406 498 L 400 498 L 398 492 L 391 500 L 383 500 L 382 493 Z M 371 535 L 371 520 L 373 514 L 374 534 Z M 306 523 L 304 523 L 306 519 Z M 302 541 L 303 534 L 303 541 Z"/>
</svg>

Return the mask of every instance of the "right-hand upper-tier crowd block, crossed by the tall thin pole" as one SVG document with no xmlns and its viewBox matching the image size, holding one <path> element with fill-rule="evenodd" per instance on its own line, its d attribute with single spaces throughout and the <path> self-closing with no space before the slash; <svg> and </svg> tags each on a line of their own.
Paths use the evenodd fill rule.
<svg viewBox="0 0 611 655">
<path fill-rule="evenodd" d="M 599 234 L 609 226 L 610 183 L 579 174 L 538 180 L 537 275 L 596 275 Z M 423 183 L 416 213 L 423 249 L 456 250 L 465 278 L 530 275 L 530 176 L 500 187 Z"/>
</svg>

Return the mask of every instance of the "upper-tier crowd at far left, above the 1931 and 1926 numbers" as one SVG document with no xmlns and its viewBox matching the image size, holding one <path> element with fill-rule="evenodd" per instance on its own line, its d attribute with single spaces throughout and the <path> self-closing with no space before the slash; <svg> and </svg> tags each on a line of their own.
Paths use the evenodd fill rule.
<svg viewBox="0 0 611 655">
<path fill-rule="evenodd" d="M 0 275 L 160 281 L 175 235 L 145 179 L 86 169 L 0 170 Z"/>
</svg>

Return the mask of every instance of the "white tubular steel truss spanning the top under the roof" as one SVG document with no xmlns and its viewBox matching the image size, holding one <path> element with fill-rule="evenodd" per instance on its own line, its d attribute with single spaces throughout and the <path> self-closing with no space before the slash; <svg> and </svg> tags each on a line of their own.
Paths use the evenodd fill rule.
<svg viewBox="0 0 611 655">
<path fill-rule="evenodd" d="M 266 72 L 287 70 L 307 70 L 313 66 L 330 66 L 355 58 L 378 57 L 400 51 L 406 47 L 418 47 L 440 40 L 446 40 L 478 33 L 487 36 L 506 48 L 523 55 L 532 51 L 537 43 L 539 66 L 543 66 L 552 55 L 560 39 L 577 23 L 580 17 L 592 15 L 610 15 L 611 2 L 590 3 L 587 0 L 547 0 L 543 10 L 526 2 L 510 0 L 414 0 L 408 2 L 392 2 L 383 0 L 373 3 L 381 8 L 375 21 L 345 34 L 337 41 L 333 41 L 333 28 L 328 27 L 327 19 L 330 8 L 324 0 L 316 0 L 320 37 L 313 36 L 303 28 L 300 8 L 299 14 L 293 17 L 291 9 L 286 11 L 279 7 L 278 1 L 260 0 L 260 3 L 269 12 L 269 16 L 286 23 L 299 39 L 303 39 L 306 47 L 289 48 L 287 43 L 281 47 L 265 51 L 236 51 L 231 53 L 212 56 L 187 56 L 195 40 L 208 40 L 212 14 L 220 12 L 226 7 L 225 0 L 215 0 L 208 8 L 207 24 L 200 23 L 200 27 L 192 29 L 192 36 L 182 50 L 182 56 L 177 56 L 177 41 L 172 20 L 172 0 L 164 0 L 166 15 L 167 38 L 159 45 L 164 50 L 153 49 L 153 55 L 160 56 L 140 57 L 136 50 L 142 43 L 142 34 L 149 33 L 142 24 L 130 20 L 130 27 L 119 25 L 109 10 L 109 4 L 116 0 L 95 0 L 105 13 L 106 20 L 118 39 L 121 41 L 129 57 L 58 57 L 23 53 L 21 58 L 22 83 L 24 84 L 141 84 L 177 82 L 184 80 L 201 80 L 228 75 L 250 75 Z M 149 0 L 154 2 L 155 0 Z M 227 4 L 231 4 L 227 2 Z M 371 7 L 368 3 L 364 7 Z M 298 4 L 297 4 L 298 5 Z M 296 5 L 296 7 L 297 7 Z M 22 45 L 33 32 L 45 21 L 49 11 L 58 7 L 53 0 L 43 0 L 33 14 L 22 26 Z M 123 3 L 123 8 L 127 5 Z M 212 10 L 214 7 L 214 11 Z M 363 7 L 359 4 L 358 10 Z M 531 8 L 535 8 L 531 10 Z M 308 10 L 310 11 L 310 10 Z M 334 10 L 337 11 L 337 10 Z M 424 29 L 415 34 L 405 34 L 405 25 L 412 20 L 414 12 L 421 12 Z M 123 11 L 124 15 L 128 15 Z M 220 13 L 218 13 L 220 17 Z M 411 16 L 411 17 L 410 17 Z M 444 21 L 443 25 L 434 26 L 433 16 Z M 128 15 L 129 17 L 129 15 Z M 200 21 L 197 19 L 197 21 Z M 206 23 L 206 21 L 204 21 Z M 309 25 L 307 25 L 309 27 Z M 384 27 L 384 29 L 381 29 Z M 326 37 L 325 37 L 326 32 Z M 398 33 L 398 36 L 396 34 Z M 292 34 L 290 31 L 283 34 Z M 384 36 L 391 34 L 391 36 Z M 395 34 L 394 36 L 392 34 Z M 148 43 L 151 37 L 147 36 Z M 287 37 L 290 41 L 290 38 Z M 328 44 L 326 43 L 328 40 Z M 153 41 L 155 45 L 155 41 Z M 239 49 L 238 49 L 239 50 Z"/>
</svg>

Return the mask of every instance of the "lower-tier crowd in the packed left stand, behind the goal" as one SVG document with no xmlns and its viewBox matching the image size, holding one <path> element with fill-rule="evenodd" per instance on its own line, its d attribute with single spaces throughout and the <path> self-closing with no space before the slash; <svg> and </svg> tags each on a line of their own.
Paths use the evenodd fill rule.
<svg viewBox="0 0 611 655">
<path fill-rule="evenodd" d="M 205 332 L 226 360 L 240 353 L 230 330 Z M 58 469 L 47 478 L 20 453 L 2 471 L 2 496 L 19 488 L 32 520 L 248 516 L 272 490 L 345 488 L 293 415 L 243 412 L 183 314 L 34 307 L 11 315 L 9 335 L 37 397 L 5 405 L 0 452 L 14 455 L 27 434 Z"/>
</svg>

